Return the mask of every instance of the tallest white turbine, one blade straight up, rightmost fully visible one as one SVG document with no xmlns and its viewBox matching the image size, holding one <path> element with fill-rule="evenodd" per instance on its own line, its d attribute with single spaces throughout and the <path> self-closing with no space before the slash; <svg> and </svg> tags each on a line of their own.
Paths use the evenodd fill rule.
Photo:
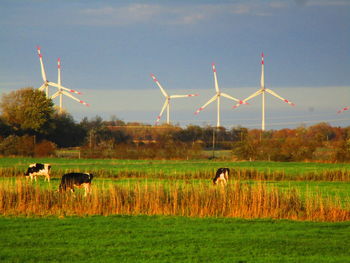
<svg viewBox="0 0 350 263">
<path fill-rule="evenodd" d="M 248 98 L 244 99 L 243 102 L 247 102 L 248 100 L 262 94 L 262 120 L 261 120 L 261 130 L 265 130 L 265 92 L 270 93 L 272 96 L 275 96 L 276 98 L 288 103 L 291 106 L 295 106 L 295 104 L 289 100 L 286 100 L 282 98 L 280 95 L 278 95 L 276 92 L 265 88 L 265 78 L 264 78 L 264 53 L 261 53 L 261 80 L 260 80 L 260 89 L 256 92 L 254 92 L 252 95 L 250 95 Z M 237 108 L 239 104 L 233 106 L 233 108 Z"/>
</svg>

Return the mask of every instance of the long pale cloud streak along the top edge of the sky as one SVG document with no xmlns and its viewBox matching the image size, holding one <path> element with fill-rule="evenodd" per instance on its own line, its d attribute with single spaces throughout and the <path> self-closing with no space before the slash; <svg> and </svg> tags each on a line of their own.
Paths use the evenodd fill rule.
<svg viewBox="0 0 350 263">
<path fill-rule="evenodd" d="M 284 5 L 272 4 L 280 8 Z M 271 8 L 270 7 L 270 8 Z M 222 15 L 269 15 L 261 4 L 129 4 L 87 8 L 79 12 L 78 23 L 87 25 L 129 25 L 137 23 L 160 23 L 192 25 Z"/>
</svg>

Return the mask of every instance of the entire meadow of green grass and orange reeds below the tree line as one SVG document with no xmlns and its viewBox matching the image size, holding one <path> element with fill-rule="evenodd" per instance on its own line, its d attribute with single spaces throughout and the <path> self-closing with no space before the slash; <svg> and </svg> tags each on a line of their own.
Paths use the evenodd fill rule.
<svg viewBox="0 0 350 263">
<path fill-rule="evenodd" d="M 29 163 L 52 180 L 26 180 Z M 233 171 L 213 186 L 219 167 Z M 91 172 L 84 197 L 56 192 Z M 350 262 L 350 165 L 0 159 L 1 262 Z M 292 221 L 291 221 L 292 220 Z"/>
</svg>

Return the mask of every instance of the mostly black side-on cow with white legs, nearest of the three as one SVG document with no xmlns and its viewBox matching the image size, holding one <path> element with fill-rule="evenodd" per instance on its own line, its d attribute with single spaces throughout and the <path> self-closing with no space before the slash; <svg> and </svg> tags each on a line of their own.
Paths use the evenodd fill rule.
<svg viewBox="0 0 350 263">
<path fill-rule="evenodd" d="M 63 192 L 71 190 L 74 192 L 74 187 L 85 188 L 85 196 L 91 192 L 92 174 L 89 173 L 68 173 L 64 174 L 61 179 L 61 184 L 58 191 Z"/>
</svg>

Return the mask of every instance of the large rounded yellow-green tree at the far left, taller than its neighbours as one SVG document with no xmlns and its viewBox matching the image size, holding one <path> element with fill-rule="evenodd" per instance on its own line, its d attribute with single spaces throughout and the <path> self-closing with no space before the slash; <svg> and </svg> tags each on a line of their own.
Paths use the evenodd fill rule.
<svg viewBox="0 0 350 263">
<path fill-rule="evenodd" d="M 53 102 L 44 92 L 24 88 L 4 94 L 0 109 L 2 118 L 15 131 L 24 134 L 45 134 L 54 113 Z"/>
</svg>

